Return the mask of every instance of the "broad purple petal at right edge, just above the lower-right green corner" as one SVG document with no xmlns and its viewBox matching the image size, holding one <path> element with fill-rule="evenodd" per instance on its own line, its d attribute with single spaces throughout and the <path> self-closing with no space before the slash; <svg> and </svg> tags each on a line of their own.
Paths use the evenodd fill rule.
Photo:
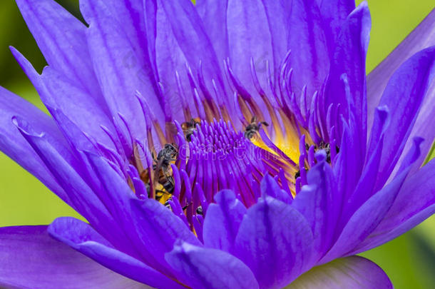
<svg viewBox="0 0 435 289">
<path fill-rule="evenodd" d="M 393 206 L 369 237 L 354 252 L 387 243 L 435 213 L 435 159 L 406 179 Z"/>
</svg>

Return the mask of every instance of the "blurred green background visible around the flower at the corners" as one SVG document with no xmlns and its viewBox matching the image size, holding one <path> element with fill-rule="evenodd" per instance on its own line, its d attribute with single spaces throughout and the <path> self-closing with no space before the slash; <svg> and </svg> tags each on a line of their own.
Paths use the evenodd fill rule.
<svg viewBox="0 0 435 289">
<path fill-rule="evenodd" d="M 78 0 L 58 0 L 78 14 Z M 433 0 L 372 0 L 368 70 L 379 64 L 424 17 Z M 0 0 L 0 85 L 43 107 L 36 91 L 9 52 L 14 46 L 38 71 L 45 65 L 13 0 Z M 0 226 L 48 224 L 58 216 L 78 216 L 23 168 L 0 153 Z M 362 254 L 378 263 L 395 288 L 435 287 L 435 217 L 409 233 Z"/>
</svg>

